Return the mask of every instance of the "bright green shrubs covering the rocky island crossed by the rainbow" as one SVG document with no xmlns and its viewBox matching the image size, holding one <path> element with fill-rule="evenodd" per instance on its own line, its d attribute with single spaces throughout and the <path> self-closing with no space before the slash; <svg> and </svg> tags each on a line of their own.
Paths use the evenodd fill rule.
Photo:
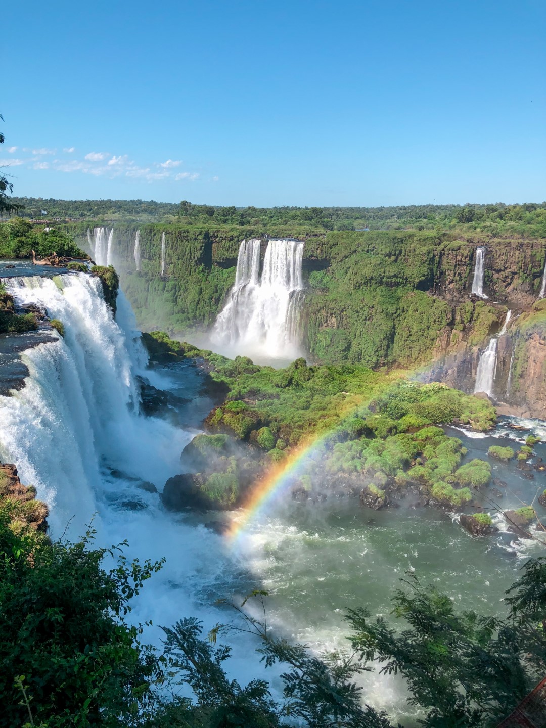
<svg viewBox="0 0 546 728">
<path fill-rule="evenodd" d="M 366 482 L 375 477 L 383 483 L 387 478 L 377 483 L 381 488 L 391 480 L 410 480 L 425 486 L 443 504 L 459 506 L 472 499 L 467 486 L 478 488 L 491 477 L 491 467 L 482 460 L 459 467 L 466 454 L 461 440 L 448 438 L 437 426 L 456 419 L 474 430 L 488 430 L 495 422 L 488 400 L 444 384 L 417 384 L 373 372 L 362 365 L 307 366 L 298 359 L 275 370 L 254 365 L 248 357 L 229 360 L 192 349 L 163 332 L 147 334 L 144 341 L 159 360 L 205 360 L 213 384 L 226 393 L 223 404 L 207 417 L 207 427 L 242 441 L 245 458 L 255 462 L 258 470 L 321 438 L 320 462 L 317 467 L 309 464 L 312 482 L 339 472 L 361 474 Z M 222 447 L 226 447 L 224 441 Z M 213 467 L 223 472 L 226 464 Z M 222 492 L 237 499 L 244 483 L 240 478 L 239 494 L 231 486 Z M 213 485 L 210 493 L 220 492 Z M 228 503 L 226 498 L 221 495 L 221 507 Z"/>
</svg>

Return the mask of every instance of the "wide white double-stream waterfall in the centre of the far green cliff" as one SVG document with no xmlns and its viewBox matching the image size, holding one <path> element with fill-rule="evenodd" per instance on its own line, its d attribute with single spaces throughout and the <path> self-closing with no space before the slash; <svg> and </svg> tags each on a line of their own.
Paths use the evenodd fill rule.
<svg viewBox="0 0 546 728">
<path fill-rule="evenodd" d="M 215 323 L 212 339 L 229 352 L 268 359 L 300 355 L 298 320 L 304 296 L 304 243 L 269 240 L 260 275 L 261 241 L 243 240 L 235 285 Z"/>
</svg>

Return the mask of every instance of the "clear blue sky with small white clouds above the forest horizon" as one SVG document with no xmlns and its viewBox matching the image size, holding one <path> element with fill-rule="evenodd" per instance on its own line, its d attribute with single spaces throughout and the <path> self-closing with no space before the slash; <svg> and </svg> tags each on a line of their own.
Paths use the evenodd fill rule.
<svg viewBox="0 0 546 728">
<path fill-rule="evenodd" d="M 15 194 L 546 199 L 542 0 L 23 0 L 2 15 Z"/>
</svg>

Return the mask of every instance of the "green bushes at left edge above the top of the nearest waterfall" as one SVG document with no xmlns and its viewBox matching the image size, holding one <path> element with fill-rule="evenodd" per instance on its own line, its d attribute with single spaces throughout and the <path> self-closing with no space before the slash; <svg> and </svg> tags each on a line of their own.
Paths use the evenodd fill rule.
<svg viewBox="0 0 546 728">
<path fill-rule="evenodd" d="M 60 257 L 87 258 L 70 235 L 58 228 L 46 231 L 23 218 L 0 223 L 0 258 L 30 258 L 33 250 L 38 258 L 52 253 Z"/>
</svg>

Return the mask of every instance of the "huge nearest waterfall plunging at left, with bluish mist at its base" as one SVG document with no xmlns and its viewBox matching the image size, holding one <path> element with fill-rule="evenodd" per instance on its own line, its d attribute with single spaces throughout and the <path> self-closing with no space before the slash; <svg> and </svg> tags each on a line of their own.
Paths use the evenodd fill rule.
<svg viewBox="0 0 546 728">
<path fill-rule="evenodd" d="M 17 303 L 44 306 L 63 322 L 66 333 L 25 352 L 30 371 L 25 387 L 0 397 L 0 454 L 17 463 L 23 482 L 33 483 L 52 507 L 55 531 L 74 517 L 82 534 L 97 510 L 102 468 L 162 487 L 178 472 L 180 449 L 165 458 L 168 440 L 183 447 L 189 436 L 138 414 L 134 374 L 146 356 L 128 328 L 124 299 L 118 323 L 98 277 L 12 278 L 6 285 Z"/>
</svg>

